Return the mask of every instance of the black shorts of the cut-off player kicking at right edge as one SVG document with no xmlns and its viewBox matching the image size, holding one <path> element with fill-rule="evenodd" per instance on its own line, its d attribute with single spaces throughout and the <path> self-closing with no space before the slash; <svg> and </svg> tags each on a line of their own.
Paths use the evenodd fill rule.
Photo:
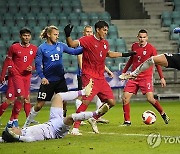
<svg viewBox="0 0 180 154">
<path fill-rule="evenodd" d="M 180 54 L 165 53 L 164 55 L 168 61 L 167 68 L 175 68 L 180 70 Z"/>
</svg>

